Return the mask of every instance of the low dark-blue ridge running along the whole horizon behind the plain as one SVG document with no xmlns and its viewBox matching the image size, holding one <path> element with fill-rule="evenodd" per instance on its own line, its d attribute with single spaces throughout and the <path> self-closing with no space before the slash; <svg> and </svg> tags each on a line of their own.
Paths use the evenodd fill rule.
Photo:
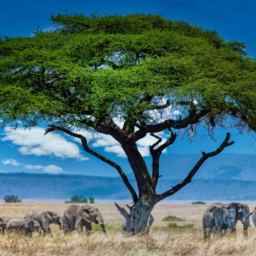
<svg viewBox="0 0 256 256">
<path fill-rule="evenodd" d="M 96 199 L 131 199 L 121 178 L 1 173 L 0 198 L 14 194 L 19 198 L 68 199 L 74 195 Z M 158 193 L 169 189 L 181 179 L 159 179 Z M 136 188 L 136 182 L 131 179 Z M 174 200 L 256 200 L 256 181 L 194 179 L 168 199 Z"/>
</svg>

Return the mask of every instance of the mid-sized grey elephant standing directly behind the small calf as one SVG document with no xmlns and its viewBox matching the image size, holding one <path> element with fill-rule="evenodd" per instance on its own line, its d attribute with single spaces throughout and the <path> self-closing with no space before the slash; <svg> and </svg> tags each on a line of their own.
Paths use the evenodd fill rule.
<svg viewBox="0 0 256 256">
<path fill-rule="evenodd" d="M 63 222 L 60 215 L 56 211 L 29 211 L 24 219 L 36 220 L 39 222 L 41 229 L 46 233 L 51 234 L 50 224 L 59 225 L 59 229 L 62 229 Z"/>
</svg>

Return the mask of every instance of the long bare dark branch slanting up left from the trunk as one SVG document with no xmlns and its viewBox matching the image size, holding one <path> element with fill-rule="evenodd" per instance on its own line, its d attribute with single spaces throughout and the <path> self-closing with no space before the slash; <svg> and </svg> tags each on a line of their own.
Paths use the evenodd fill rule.
<svg viewBox="0 0 256 256">
<path fill-rule="evenodd" d="M 136 203 L 137 200 L 138 200 L 138 196 L 133 188 L 133 186 L 131 185 L 131 183 L 129 182 L 129 180 L 127 179 L 125 173 L 123 172 L 122 168 L 114 163 L 113 161 L 109 160 L 108 158 L 98 154 L 97 152 L 93 151 L 91 148 L 89 148 L 88 144 L 87 144 L 87 139 L 86 137 L 80 135 L 80 134 L 76 134 L 76 133 L 73 133 L 65 128 L 62 128 L 60 126 L 56 126 L 56 125 L 49 125 L 49 129 L 46 130 L 45 134 L 47 133 L 50 133 L 50 132 L 53 132 L 53 131 L 61 131 L 63 133 L 66 133 L 72 137 L 76 137 L 76 138 L 79 138 L 82 142 L 82 146 L 83 146 L 83 149 L 88 152 L 89 154 L 99 158 L 100 160 L 102 160 L 103 162 L 105 163 L 108 163 L 109 165 L 111 165 L 112 167 L 116 168 L 117 169 L 117 172 L 119 173 L 119 175 L 121 176 L 122 180 L 123 180 L 123 183 L 125 184 L 125 186 L 129 189 L 131 195 L 132 195 L 132 198 L 133 198 L 133 202 Z"/>
</svg>

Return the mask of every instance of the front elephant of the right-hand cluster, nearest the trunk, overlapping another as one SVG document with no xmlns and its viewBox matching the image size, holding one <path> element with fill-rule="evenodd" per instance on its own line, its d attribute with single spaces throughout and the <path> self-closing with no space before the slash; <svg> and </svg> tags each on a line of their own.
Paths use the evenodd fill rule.
<svg viewBox="0 0 256 256">
<path fill-rule="evenodd" d="M 204 238 L 210 238 L 211 232 L 225 234 L 228 230 L 236 231 L 233 209 L 210 206 L 203 214 Z"/>
</svg>

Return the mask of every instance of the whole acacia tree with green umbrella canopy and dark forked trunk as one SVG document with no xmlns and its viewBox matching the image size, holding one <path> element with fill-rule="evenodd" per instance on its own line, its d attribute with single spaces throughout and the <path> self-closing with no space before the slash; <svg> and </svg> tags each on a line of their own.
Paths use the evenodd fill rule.
<svg viewBox="0 0 256 256">
<path fill-rule="evenodd" d="M 0 41 L 2 126 L 44 121 L 46 134 L 79 138 L 86 152 L 113 166 L 134 202 L 129 211 L 116 204 L 127 231 L 143 231 L 157 202 L 233 144 L 227 133 L 217 150 L 202 152 L 181 183 L 159 195 L 159 159 L 176 133 L 196 136 L 200 125 L 210 134 L 214 127 L 255 131 L 256 65 L 245 44 L 159 15 L 59 14 L 51 20 L 51 32 Z M 138 193 L 118 164 L 89 147 L 83 130 L 120 143 Z M 163 131 L 169 133 L 165 142 L 156 134 Z M 150 145 L 152 170 L 136 144 L 147 134 L 157 139 Z"/>
</svg>

